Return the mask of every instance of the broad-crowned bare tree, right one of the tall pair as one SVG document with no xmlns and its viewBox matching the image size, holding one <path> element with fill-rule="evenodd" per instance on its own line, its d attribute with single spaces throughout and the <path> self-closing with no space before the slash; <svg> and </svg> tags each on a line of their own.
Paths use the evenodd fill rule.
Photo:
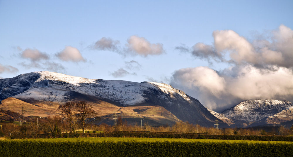
<svg viewBox="0 0 293 157">
<path fill-rule="evenodd" d="M 87 104 L 84 101 L 75 103 L 74 110 L 74 114 L 79 120 L 78 122 L 81 125 L 83 133 L 84 130 L 91 125 L 91 119 L 94 119 L 94 121 L 98 120 L 97 112 L 92 109 L 90 104 Z"/>
</svg>

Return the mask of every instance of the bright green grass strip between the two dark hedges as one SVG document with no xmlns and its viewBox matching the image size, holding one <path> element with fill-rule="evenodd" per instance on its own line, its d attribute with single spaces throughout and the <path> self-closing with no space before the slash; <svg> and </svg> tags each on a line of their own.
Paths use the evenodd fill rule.
<svg viewBox="0 0 293 157">
<path fill-rule="evenodd" d="M 246 141 L 246 140 L 221 140 L 221 139 L 171 139 L 171 138 L 135 138 L 135 137 L 80 137 L 80 138 L 57 138 L 57 139 L 10 139 L 13 141 L 41 141 L 41 142 L 226 142 L 226 143 L 279 143 L 279 144 L 293 144 L 293 142 L 280 141 Z"/>
</svg>

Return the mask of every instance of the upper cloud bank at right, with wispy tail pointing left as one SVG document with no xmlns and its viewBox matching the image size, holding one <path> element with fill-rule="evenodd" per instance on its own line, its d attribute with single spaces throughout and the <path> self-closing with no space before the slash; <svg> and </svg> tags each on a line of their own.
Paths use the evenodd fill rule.
<svg viewBox="0 0 293 157">
<path fill-rule="evenodd" d="M 214 44 L 196 43 L 191 49 L 178 46 L 175 49 L 190 52 L 200 59 L 230 62 L 236 65 L 252 64 L 258 67 L 293 67 L 293 31 L 280 25 L 272 31 L 270 38 L 252 42 L 233 30 L 214 31 Z M 224 56 L 228 53 L 230 60 Z"/>
</svg>

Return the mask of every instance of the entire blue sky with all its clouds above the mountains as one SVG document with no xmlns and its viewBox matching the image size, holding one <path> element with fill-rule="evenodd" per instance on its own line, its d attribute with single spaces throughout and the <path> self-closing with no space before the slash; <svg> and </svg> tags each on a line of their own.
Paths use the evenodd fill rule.
<svg viewBox="0 0 293 157">
<path fill-rule="evenodd" d="M 0 77 L 171 84 L 223 111 L 293 102 L 293 1 L 0 0 Z"/>
</svg>

